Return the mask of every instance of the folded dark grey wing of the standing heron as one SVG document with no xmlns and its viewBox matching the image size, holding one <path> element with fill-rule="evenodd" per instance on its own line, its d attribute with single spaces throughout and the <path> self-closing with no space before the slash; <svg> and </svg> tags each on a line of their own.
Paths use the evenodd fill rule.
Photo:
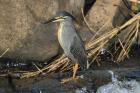
<svg viewBox="0 0 140 93">
<path fill-rule="evenodd" d="M 70 53 L 73 55 L 74 59 L 76 60 L 79 65 L 85 69 L 86 63 L 87 63 L 87 54 L 83 45 L 83 42 L 81 41 L 80 37 L 77 35 L 74 37 L 72 41 L 72 45 L 70 46 Z"/>
</svg>

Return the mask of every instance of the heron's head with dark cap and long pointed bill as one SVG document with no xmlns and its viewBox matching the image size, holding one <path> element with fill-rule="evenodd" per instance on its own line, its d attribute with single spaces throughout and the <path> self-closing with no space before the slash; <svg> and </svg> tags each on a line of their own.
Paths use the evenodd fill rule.
<svg viewBox="0 0 140 93">
<path fill-rule="evenodd" d="M 67 18 L 71 18 L 72 20 L 75 20 L 74 16 L 72 16 L 70 13 L 66 12 L 66 11 L 61 11 L 56 13 L 55 16 L 51 17 L 47 22 L 45 22 L 44 24 L 48 24 L 51 22 L 61 22 Z"/>
</svg>

